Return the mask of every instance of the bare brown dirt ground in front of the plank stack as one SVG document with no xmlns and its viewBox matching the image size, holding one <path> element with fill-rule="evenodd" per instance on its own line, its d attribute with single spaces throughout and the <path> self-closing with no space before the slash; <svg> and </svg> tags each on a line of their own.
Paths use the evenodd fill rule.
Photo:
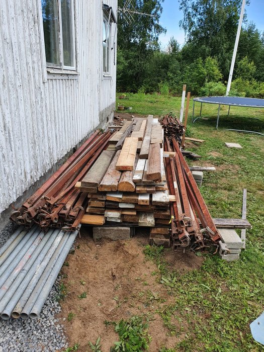
<svg viewBox="0 0 264 352">
<path fill-rule="evenodd" d="M 79 343 L 79 352 L 90 351 L 88 342 L 95 343 L 99 336 L 102 351 L 109 352 L 118 335 L 113 324 L 105 322 L 142 314 L 151 316 L 151 352 L 179 341 L 168 334 L 156 312 L 173 303 L 173 297 L 159 283 L 156 265 L 145 258 L 148 236 L 148 230 L 140 229 L 130 240 L 94 242 L 89 230 L 82 228 L 75 252 L 68 255 L 68 265 L 62 268 L 68 293 L 59 314 L 69 345 Z M 193 253 L 175 254 L 171 249 L 166 250 L 165 260 L 180 272 L 198 269 L 203 261 Z M 86 298 L 78 298 L 83 292 Z M 71 321 L 69 313 L 75 314 Z"/>
</svg>

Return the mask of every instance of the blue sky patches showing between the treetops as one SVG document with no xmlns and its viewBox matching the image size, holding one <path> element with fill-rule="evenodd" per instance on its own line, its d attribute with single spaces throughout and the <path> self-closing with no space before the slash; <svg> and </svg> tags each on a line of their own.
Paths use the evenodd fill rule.
<svg viewBox="0 0 264 352">
<path fill-rule="evenodd" d="M 180 29 L 179 22 L 183 18 L 183 13 L 179 10 L 178 0 L 164 0 L 162 4 L 163 12 L 160 23 L 167 29 L 165 35 L 161 35 L 159 40 L 161 46 L 165 47 L 170 37 L 174 37 L 180 44 L 184 43 L 184 31 Z M 264 1 L 251 0 L 250 5 L 246 6 L 248 22 L 253 21 L 260 31 L 264 31 Z"/>
</svg>

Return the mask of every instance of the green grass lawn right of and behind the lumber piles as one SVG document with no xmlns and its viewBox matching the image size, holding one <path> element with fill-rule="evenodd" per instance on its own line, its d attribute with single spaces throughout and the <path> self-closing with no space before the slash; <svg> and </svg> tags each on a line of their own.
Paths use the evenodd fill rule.
<svg viewBox="0 0 264 352">
<path fill-rule="evenodd" d="M 119 100 L 118 96 L 117 105 L 132 107 L 129 113 L 162 116 L 173 112 L 179 117 L 181 98 L 129 94 L 128 99 Z M 231 107 L 227 118 L 228 107 L 223 107 L 216 130 L 217 109 L 204 105 L 205 119 L 192 124 L 191 101 L 188 132 L 205 143 L 188 146 L 202 156 L 188 162 L 217 169 L 204 172 L 201 187 L 213 217 L 240 218 L 243 188 L 247 188 L 247 218 L 252 229 L 247 231 L 246 250 L 239 261 L 228 263 L 217 255 L 204 254 L 202 268 L 188 274 L 169 267 L 162 257 L 164 250 L 160 255 L 160 249 L 147 248 L 147 257 L 158 265 L 158 280 L 174 298 L 173 304 L 160 311 L 163 323 L 172 335 L 185 332 L 174 349 L 164 346 L 162 352 L 264 350 L 249 329 L 250 322 L 264 310 L 264 136 L 224 131 L 236 128 L 264 133 L 264 109 Z M 195 115 L 199 113 L 197 104 Z M 224 142 L 240 143 L 243 148 L 227 148 Z"/>
</svg>

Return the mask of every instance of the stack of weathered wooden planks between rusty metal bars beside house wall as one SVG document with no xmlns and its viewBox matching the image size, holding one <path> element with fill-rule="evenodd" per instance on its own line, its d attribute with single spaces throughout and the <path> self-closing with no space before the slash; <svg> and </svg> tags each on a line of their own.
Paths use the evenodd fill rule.
<svg viewBox="0 0 264 352">
<path fill-rule="evenodd" d="M 164 237 L 170 212 L 163 134 L 157 119 L 149 115 L 127 121 L 76 188 L 89 198 L 81 223 L 156 226 L 161 228 L 156 234 Z"/>
</svg>

